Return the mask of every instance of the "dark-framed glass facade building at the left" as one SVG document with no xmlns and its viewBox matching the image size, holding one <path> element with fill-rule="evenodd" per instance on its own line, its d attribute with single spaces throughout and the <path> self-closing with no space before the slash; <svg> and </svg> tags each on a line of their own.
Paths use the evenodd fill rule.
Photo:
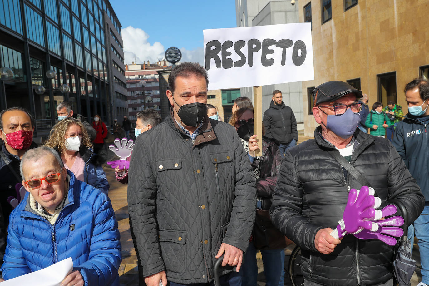
<svg viewBox="0 0 429 286">
<path fill-rule="evenodd" d="M 57 120 L 66 100 L 88 122 L 127 115 L 121 24 L 108 0 L 0 0 L 0 108 L 21 106 L 36 118 L 38 137 Z M 112 52 L 115 50 L 115 53 Z M 53 69 L 56 76 L 46 77 Z M 68 93 L 58 88 L 67 84 Z M 45 87 L 44 94 L 35 88 Z M 117 95 L 119 94 L 119 95 Z"/>
</svg>

